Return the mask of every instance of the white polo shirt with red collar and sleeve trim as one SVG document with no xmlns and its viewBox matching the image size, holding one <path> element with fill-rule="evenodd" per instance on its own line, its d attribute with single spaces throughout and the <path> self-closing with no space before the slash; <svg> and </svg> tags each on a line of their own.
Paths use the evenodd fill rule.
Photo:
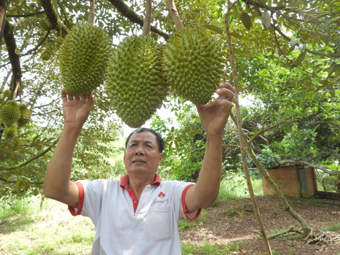
<svg viewBox="0 0 340 255">
<path fill-rule="evenodd" d="M 184 181 L 161 181 L 158 174 L 146 185 L 137 201 L 128 187 L 128 175 L 120 180 L 75 182 L 78 207 L 72 215 L 88 216 L 96 230 L 91 255 L 181 254 L 178 219 L 198 217 L 200 209 L 185 214 L 185 193 L 194 185 Z"/>
</svg>

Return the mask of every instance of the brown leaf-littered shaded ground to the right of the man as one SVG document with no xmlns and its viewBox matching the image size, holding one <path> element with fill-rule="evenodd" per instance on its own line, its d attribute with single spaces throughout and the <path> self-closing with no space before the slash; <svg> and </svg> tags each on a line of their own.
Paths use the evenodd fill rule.
<svg viewBox="0 0 340 255">
<path fill-rule="evenodd" d="M 288 199 L 294 210 L 313 228 L 326 227 L 327 230 L 335 229 L 336 233 L 340 233 L 339 205 L 325 204 L 318 199 Z M 257 197 L 256 200 L 266 232 L 274 233 L 290 225 L 300 227 L 298 222 L 283 210 L 276 196 Z M 237 243 L 239 249 L 231 254 L 265 253 L 262 239 L 253 233 L 258 227 L 250 198 L 220 201 L 201 216 L 194 224 L 187 221 L 180 223 L 180 237 L 183 242 L 197 245 L 206 241 L 215 245 L 232 242 Z M 340 241 L 333 245 L 306 244 L 300 234 L 271 239 L 269 244 L 273 254 L 340 254 Z"/>
</svg>

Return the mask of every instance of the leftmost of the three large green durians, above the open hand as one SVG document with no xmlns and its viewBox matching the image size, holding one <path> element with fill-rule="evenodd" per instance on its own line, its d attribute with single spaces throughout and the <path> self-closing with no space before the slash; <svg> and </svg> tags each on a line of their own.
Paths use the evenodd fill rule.
<svg viewBox="0 0 340 255">
<path fill-rule="evenodd" d="M 73 26 L 60 47 L 58 62 L 67 94 L 91 92 L 103 83 L 111 45 L 103 28 L 88 22 Z"/>
</svg>

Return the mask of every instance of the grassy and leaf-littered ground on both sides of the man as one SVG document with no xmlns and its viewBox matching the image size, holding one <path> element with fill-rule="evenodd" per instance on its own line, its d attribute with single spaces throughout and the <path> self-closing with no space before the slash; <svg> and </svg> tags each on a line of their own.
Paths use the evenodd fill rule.
<svg viewBox="0 0 340 255">
<path fill-rule="evenodd" d="M 274 233 L 290 225 L 299 228 L 277 197 L 261 196 L 256 200 L 266 231 Z M 318 199 L 288 200 L 313 228 L 340 234 L 339 205 Z M 258 227 L 250 198 L 221 199 L 202 210 L 198 219 L 180 220 L 182 254 L 265 254 L 254 229 Z M 93 237 L 94 226 L 88 218 L 73 217 L 66 206 L 52 200 L 44 203 L 42 210 L 0 219 L 0 254 L 85 255 L 90 254 Z M 340 255 L 340 241 L 333 245 L 306 244 L 300 234 L 271 239 L 269 244 L 273 254 Z"/>
</svg>

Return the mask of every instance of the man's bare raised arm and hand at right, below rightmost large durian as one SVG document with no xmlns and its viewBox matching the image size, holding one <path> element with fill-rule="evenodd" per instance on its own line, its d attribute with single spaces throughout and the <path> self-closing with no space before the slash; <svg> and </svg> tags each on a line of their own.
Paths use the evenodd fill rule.
<svg viewBox="0 0 340 255">
<path fill-rule="evenodd" d="M 200 121 L 206 131 L 206 148 L 202 168 L 197 183 L 185 194 L 186 212 L 190 213 L 202 207 L 208 207 L 215 201 L 222 176 L 222 141 L 223 130 L 228 120 L 235 89 L 227 82 L 222 82 L 215 92 L 215 101 L 196 106 Z"/>
</svg>

